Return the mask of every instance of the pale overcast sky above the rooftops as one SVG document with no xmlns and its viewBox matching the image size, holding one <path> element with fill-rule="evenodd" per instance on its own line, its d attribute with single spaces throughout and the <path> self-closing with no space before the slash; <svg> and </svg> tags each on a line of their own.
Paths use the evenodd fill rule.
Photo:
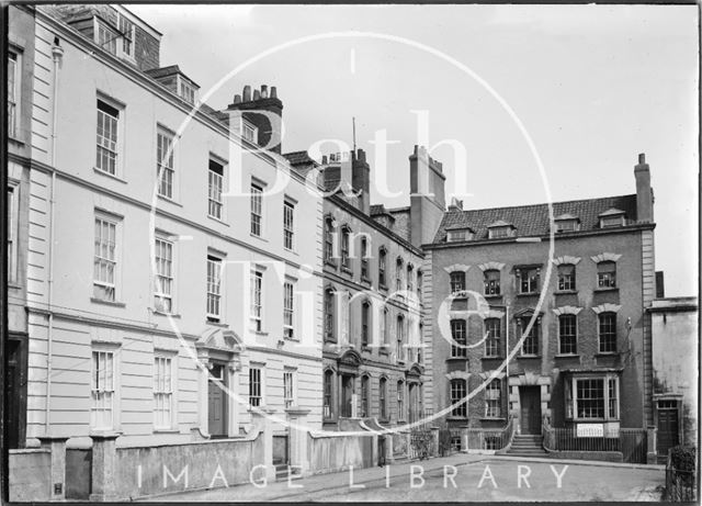
<svg viewBox="0 0 702 506">
<path fill-rule="evenodd" d="M 207 101 L 224 109 L 245 85 L 276 86 L 284 151 L 324 138 L 371 158 L 387 131 L 389 189 L 374 203 L 408 205 L 417 114 L 429 140 L 467 153 L 464 207 L 546 201 L 544 182 L 514 121 L 467 66 L 521 120 L 543 160 L 554 201 L 634 193 L 646 153 L 656 204 L 656 269 L 666 295 L 698 293 L 697 5 L 131 5 L 163 33 L 161 65 L 178 64 L 201 95 L 261 52 L 301 37 L 362 31 L 411 40 L 431 52 L 367 36 L 328 38 L 260 58 Z M 446 191 L 453 150 L 437 148 Z M 373 165 L 373 162 L 372 162 Z M 373 170 L 373 167 L 372 167 Z"/>
</svg>

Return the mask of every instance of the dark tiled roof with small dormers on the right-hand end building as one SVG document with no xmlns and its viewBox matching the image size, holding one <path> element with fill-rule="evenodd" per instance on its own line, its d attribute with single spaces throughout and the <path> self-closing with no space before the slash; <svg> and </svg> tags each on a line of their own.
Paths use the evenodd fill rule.
<svg viewBox="0 0 702 506">
<path fill-rule="evenodd" d="M 570 214 L 580 220 L 580 232 L 599 229 L 599 215 L 612 207 L 626 213 L 627 220 L 636 220 L 636 194 L 608 196 L 601 199 L 554 202 L 553 214 Z M 513 207 L 494 207 L 469 211 L 446 211 L 434 237 L 433 244 L 446 240 L 446 230 L 473 228 L 474 240 L 488 238 L 488 226 L 499 222 L 509 222 L 517 237 L 546 236 L 550 233 L 548 205 L 520 205 Z"/>
</svg>

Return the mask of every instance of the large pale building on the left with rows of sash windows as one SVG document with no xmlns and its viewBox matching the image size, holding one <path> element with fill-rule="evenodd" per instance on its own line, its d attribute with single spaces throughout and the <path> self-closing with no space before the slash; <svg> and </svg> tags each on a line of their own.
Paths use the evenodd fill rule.
<svg viewBox="0 0 702 506">
<path fill-rule="evenodd" d="M 37 9 L 30 440 L 234 437 L 251 406 L 321 426 L 320 189 L 241 112 L 282 114 L 274 88 L 200 104 L 160 36 L 121 7 Z"/>
</svg>

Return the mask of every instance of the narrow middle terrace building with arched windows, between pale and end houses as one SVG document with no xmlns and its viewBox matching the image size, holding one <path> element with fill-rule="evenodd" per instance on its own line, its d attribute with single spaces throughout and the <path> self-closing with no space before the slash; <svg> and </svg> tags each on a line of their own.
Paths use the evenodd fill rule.
<svg viewBox="0 0 702 506">
<path fill-rule="evenodd" d="M 430 179 L 435 195 L 422 193 L 409 207 L 371 205 L 371 167 L 362 149 L 288 159 L 298 170 L 322 172 L 324 204 L 324 426 L 358 429 L 364 419 L 381 426 L 419 421 L 427 409 L 423 341 L 423 254 L 443 209 L 441 164 L 423 148 L 409 157 L 410 179 Z M 417 189 L 414 190 L 418 193 Z M 416 224 L 421 223 L 421 227 Z M 414 239 L 414 240 L 412 240 Z M 373 426 L 371 423 L 370 426 Z"/>
</svg>

